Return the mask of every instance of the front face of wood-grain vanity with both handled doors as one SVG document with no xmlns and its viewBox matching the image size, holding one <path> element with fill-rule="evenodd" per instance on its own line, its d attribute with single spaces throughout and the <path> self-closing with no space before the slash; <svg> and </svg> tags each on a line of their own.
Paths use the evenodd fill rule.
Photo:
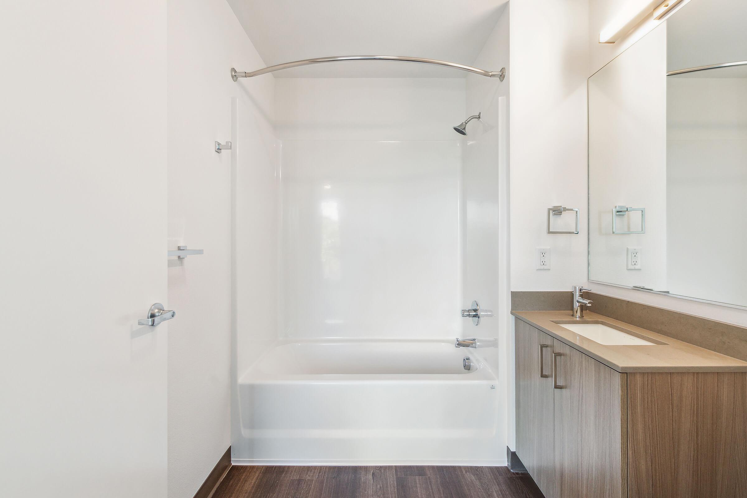
<svg viewBox="0 0 747 498">
<path fill-rule="evenodd" d="M 521 462 L 546 498 L 627 497 L 626 374 L 521 320 L 515 329 Z"/>
</svg>

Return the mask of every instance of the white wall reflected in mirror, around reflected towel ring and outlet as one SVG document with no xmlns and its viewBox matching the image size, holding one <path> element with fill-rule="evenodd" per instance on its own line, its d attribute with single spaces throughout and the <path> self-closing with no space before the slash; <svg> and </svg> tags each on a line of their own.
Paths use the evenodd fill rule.
<svg viewBox="0 0 747 498">
<path fill-rule="evenodd" d="M 589 278 L 667 290 L 666 24 L 589 78 Z M 645 208 L 613 215 L 616 205 Z M 627 247 L 641 249 L 627 270 Z"/>
</svg>

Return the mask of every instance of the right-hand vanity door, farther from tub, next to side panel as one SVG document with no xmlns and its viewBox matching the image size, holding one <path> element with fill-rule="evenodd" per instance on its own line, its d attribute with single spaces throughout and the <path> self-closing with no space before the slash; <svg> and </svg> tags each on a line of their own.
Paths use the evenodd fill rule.
<svg viewBox="0 0 747 498">
<path fill-rule="evenodd" d="M 627 376 L 554 340 L 555 498 L 627 497 Z"/>
</svg>

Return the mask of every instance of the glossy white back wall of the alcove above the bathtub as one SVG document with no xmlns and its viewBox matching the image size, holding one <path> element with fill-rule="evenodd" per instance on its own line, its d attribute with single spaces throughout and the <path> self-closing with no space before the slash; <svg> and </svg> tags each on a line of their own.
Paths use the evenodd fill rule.
<svg viewBox="0 0 747 498">
<path fill-rule="evenodd" d="M 282 335 L 458 334 L 465 81 L 285 78 L 276 110 Z"/>
</svg>

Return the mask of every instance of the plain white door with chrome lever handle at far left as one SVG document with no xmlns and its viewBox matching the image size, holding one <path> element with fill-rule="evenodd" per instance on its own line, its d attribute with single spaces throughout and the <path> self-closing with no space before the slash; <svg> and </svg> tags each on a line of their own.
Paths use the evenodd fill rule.
<svg viewBox="0 0 747 498">
<path fill-rule="evenodd" d="M 0 496 L 165 497 L 165 1 L 5 1 L 0 46 Z"/>
</svg>

